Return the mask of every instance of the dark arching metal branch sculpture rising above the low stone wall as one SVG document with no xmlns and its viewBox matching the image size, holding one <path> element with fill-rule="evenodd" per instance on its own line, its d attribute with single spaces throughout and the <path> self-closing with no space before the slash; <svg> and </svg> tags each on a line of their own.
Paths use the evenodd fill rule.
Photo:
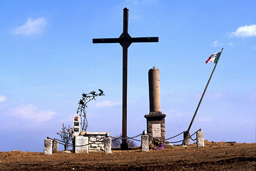
<svg viewBox="0 0 256 171">
<path fill-rule="evenodd" d="M 80 98 L 78 102 L 78 109 L 76 114 L 79 113 L 80 116 L 80 125 L 81 125 L 81 131 L 86 131 L 88 127 L 88 120 L 87 120 L 87 103 L 91 100 L 96 100 L 95 97 L 97 96 L 104 96 L 104 92 L 99 89 L 99 94 L 97 94 L 95 91 L 92 91 L 88 94 L 82 94 L 82 98 Z"/>
</svg>

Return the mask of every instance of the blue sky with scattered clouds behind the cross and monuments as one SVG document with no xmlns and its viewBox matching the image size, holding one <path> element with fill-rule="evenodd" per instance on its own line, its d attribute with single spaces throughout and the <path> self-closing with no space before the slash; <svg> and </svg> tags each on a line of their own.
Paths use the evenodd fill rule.
<svg viewBox="0 0 256 171">
<path fill-rule="evenodd" d="M 160 71 L 166 138 L 186 131 L 215 66 L 205 61 L 224 48 L 190 133 L 255 142 L 256 1 L 11 0 L 0 6 L 1 152 L 43 152 L 44 139 L 60 139 L 62 123 L 72 125 L 81 94 L 98 89 L 105 96 L 88 103 L 87 131 L 121 133 L 122 47 L 92 39 L 119 37 L 125 7 L 132 37 L 159 37 L 129 47 L 127 136 L 146 130 L 153 67 Z"/>
</svg>

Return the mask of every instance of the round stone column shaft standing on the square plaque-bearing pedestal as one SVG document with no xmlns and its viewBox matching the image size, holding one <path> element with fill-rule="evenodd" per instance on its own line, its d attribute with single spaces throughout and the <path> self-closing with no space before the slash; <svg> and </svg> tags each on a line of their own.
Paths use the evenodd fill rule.
<svg viewBox="0 0 256 171">
<path fill-rule="evenodd" d="M 148 71 L 148 90 L 150 93 L 150 112 L 161 112 L 159 69 Z"/>
</svg>

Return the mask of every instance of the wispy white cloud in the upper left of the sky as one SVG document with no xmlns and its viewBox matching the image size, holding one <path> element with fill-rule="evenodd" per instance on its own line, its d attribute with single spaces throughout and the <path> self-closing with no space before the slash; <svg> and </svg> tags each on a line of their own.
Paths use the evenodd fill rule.
<svg viewBox="0 0 256 171">
<path fill-rule="evenodd" d="M 23 26 L 17 27 L 13 33 L 22 35 L 40 34 L 46 25 L 47 22 L 44 17 L 40 17 L 34 20 L 28 18 L 27 22 Z"/>
</svg>

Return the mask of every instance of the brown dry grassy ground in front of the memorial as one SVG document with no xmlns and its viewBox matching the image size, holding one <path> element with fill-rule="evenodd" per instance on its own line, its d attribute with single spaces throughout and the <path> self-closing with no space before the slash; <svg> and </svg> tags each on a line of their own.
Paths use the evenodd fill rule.
<svg viewBox="0 0 256 171">
<path fill-rule="evenodd" d="M 160 151 L 112 150 L 112 154 L 0 152 L 0 170 L 256 170 L 255 143 L 205 141 Z"/>
</svg>

